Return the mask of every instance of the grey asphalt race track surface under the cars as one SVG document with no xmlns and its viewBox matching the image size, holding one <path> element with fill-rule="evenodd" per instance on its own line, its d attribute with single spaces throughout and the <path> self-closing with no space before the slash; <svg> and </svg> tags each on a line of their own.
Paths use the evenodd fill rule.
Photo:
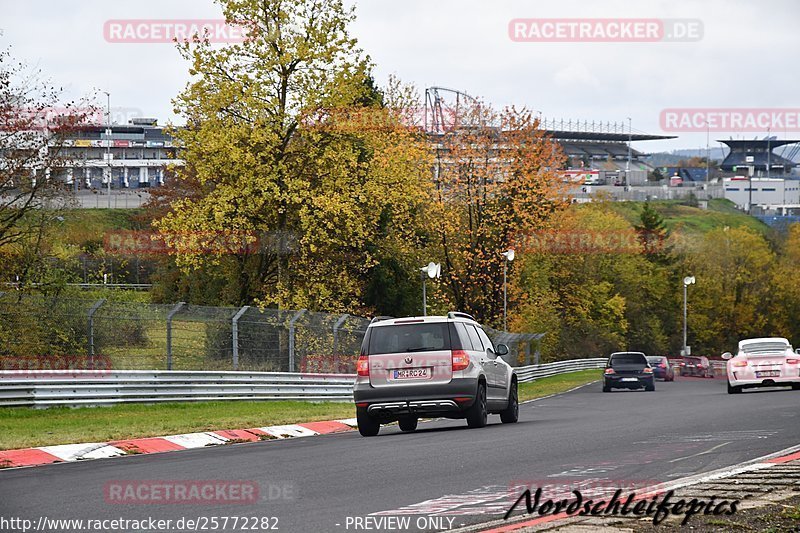
<svg viewBox="0 0 800 533">
<path fill-rule="evenodd" d="M 415 529 L 418 516 L 430 515 L 418 525 L 455 528 L 502 516 L 520 482 L 652 484 L 800 444 L 798 406 L 800 392 L 729 395 L 719 378 L 659 381 L 652 393 L 602 393 L 598 382 L 521 406 L 515 425 L 491 416 L 486 428 L 469 430 L 445 420 L 411 434 L 392 426 L 375 438 L 350 432 L 0 471 L 0 511 L 33 520 L 274 516 L 279 531 L 300 532 L 385 530 L 378 520 L 387 515 L 410 516 Z M 261 502 L 104 497 L 112 481 L 177 479 L 254 481 Z"/>
</svg>

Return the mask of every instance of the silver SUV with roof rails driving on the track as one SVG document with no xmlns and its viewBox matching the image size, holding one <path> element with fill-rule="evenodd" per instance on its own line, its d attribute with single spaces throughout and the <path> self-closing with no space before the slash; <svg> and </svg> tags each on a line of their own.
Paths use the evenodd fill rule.
<svg viewBox="0 0 800 533">
<path fill-rule="evenodd" d="M 414 431 L 434 417 L 466 418 L 471 428 L 489 414 L 516 422 L 517 377 L 506 355 L 508 346 L 493 346 L 465 313 L 373 319 L 356 365 L 358 431 L 372 437 L 394 421 Z"/>
</svg>

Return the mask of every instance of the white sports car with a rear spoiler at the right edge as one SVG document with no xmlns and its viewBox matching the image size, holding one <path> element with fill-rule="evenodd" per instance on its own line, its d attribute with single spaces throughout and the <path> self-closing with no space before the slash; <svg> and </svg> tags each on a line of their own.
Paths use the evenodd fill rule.
<svg viewBox="0 0 800 533">
<path fill-rule="evenodd" d="M 800 390 L 800 355 L 781 337 L 747 339 L 739 351 L 722 354 L 728 361 L 728 394 L 751 387 L 791 386 Z"/>
</svg>

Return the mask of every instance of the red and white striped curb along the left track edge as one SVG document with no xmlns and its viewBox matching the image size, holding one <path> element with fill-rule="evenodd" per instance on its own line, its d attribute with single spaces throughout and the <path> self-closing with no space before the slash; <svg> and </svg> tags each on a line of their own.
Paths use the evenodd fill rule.
<svg viewBox="0 0 800 533">
<path fill-rule="evenodd" d="M 250 429 L 230 429 L 183 433 L 164 437 L 117 440 L 112 442 L 89 442 L 84 444 L 62 444 L 40 446 L 22 450 L 0 451 L 0 468 L 38 466 L 52 463 L 69 463 L 87 459 L 105 459 L 122 455 L 161 453 L 192 448 L 205 448 L 238 442 L 255 442 L 271 439 L 314 437 L 329 433 L 342 433 L 357 427 L 355 418 L 305 422 L 283 426 L 267 426 Z"/>
</svg>

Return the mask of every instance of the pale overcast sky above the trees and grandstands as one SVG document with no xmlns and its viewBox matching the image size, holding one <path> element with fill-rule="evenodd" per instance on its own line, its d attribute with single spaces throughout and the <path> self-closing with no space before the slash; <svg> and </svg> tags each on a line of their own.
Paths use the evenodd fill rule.
<svg viewBox="0 0 800 533">
<path fill-rule="evenodd" d="M 664 108 L 796 108 L 797 0 L 356 0 L 352 33 L 376 64 L 419 88 L 460 89 L 544 117 L 627 122 L 663 133 Z M 171 44 L 109 43 L 109 19 L 218 18 L 212 0 L 0 0 L 0 47 L 40 68 L 70 98 L 108 90 L 112 107 L 163 123 L 187 65 Z M 699 19 L 696 42 L 513 42 L 515 18 Z M 779 138 L 791 132 L 772 132 Z M 748 133 L 747 138 L 756 134 Z M 763 132 L 762 135 L 766 135 Z M 735 133 L 712 134 L 715 138 Z M 643 151 L 705 147 L 706 134 L 638 143 Z M 718 145 L 717 145 L 718 146 Z"/>
</svg>

